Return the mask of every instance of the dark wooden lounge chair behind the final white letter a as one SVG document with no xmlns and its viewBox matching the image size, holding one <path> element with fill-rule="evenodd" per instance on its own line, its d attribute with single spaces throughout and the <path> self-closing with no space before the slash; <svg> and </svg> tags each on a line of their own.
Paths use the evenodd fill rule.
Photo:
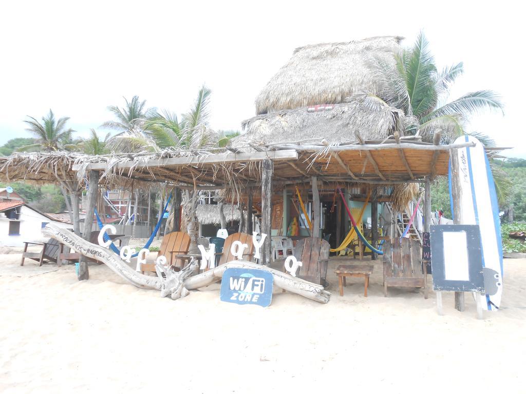
<svg viewBox="0 0 526 394">
<path fill-rule="evenodd" d="M 302 264 L 297 276 L 306 281 L 327 287 L 329 248 L 329 243 L 321 238 L 308 237 L 299 240 L 294 247 L 294 256 Z"/>
</svg>

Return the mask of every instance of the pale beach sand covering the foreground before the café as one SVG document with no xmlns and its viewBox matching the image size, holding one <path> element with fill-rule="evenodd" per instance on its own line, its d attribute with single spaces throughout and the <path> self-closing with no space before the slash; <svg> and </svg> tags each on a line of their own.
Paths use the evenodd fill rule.
<svg viewBox="0 0 526 394">
<path fill-rule="evenodd" d="M 526 260 L 504 260 L 499 312 L 476 317 L 431 291 L 369 297 L 348 279 L 321 305 L 276 291 L 268 308 L 220 302 L 218 285 L 180 300 L 127 284 L 105 265 L 19 266 L 0 255 L 0 392 L 526 392 Z M 354 261 L 351 261 L 351 263 Z M 356 261 L 358 263 L 358 261 Z M 431 285 L 431 277 L 429 277 Z"/>
</svg>

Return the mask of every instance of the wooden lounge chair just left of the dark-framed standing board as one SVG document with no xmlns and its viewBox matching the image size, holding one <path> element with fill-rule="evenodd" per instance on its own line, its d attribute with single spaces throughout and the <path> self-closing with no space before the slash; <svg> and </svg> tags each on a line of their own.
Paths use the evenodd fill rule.
<svg viewBox="0 0 526 394">
<path fill-rule="evenodd" d="M 427 269 L 422 266 L 420 243 L 409 238 L 383 244 L 383 295 L 389 287 L 423 287 L 427 299 Z"/>
</svg>

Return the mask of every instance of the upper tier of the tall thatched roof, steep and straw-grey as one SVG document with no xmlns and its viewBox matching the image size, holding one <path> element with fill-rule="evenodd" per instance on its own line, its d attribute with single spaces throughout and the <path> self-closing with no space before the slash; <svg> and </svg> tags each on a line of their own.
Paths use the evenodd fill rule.
<svg viewBox="0 0 526 394">
<path fill-rule="evenodd" d="M 402 37 L 372 37 L 348 43 L 297 48 L 256 98 L 256 113 L 275 112 L 322 103 L 340 103 L 358 91 L 377 94 L 381 82 L 370 59 L 394 63 Z"/>
</svg>

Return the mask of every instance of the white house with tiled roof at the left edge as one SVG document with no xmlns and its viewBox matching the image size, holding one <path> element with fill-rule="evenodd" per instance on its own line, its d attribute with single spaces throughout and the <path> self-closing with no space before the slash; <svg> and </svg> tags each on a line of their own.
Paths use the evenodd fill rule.
<svg viewBox="0 0 526 394">
<path fill-rule="evenodd" d="M 23 247 L 24 242 L 47 241 L 42 229 L 48 223 L 73 229 L 73 224 L 54 220 L 23 201 L 0 201 L 0 246 Z"/>
</svg>

